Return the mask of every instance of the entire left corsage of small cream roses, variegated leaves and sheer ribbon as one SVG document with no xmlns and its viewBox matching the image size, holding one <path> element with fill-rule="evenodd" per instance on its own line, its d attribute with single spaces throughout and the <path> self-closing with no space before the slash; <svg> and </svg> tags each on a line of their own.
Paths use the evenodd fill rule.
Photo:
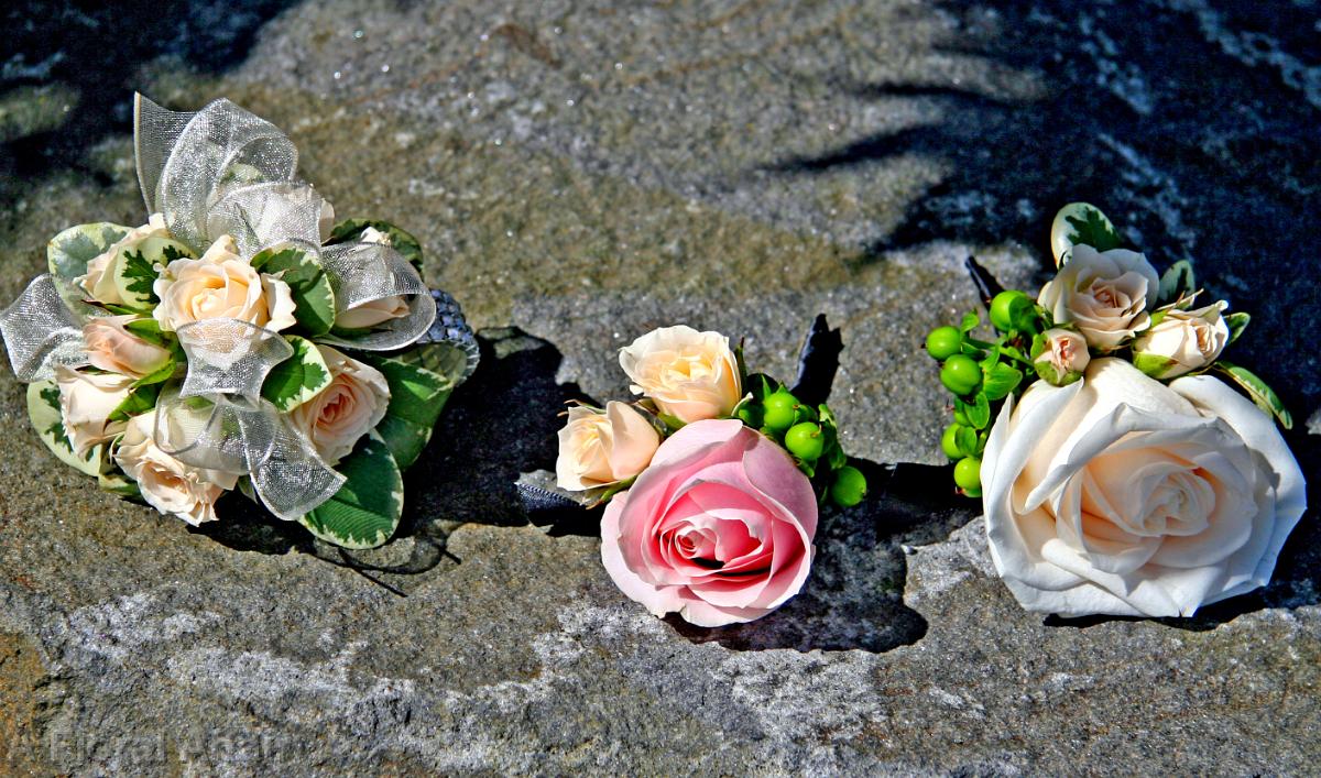
<svg viewBox="0 0 1321 778">
<path fill-rule="evenodd" d="M 477 366 L 421 248 L 334 223 L 273 124 L 137 96 L 141 227 L 79 225 L 0 313 L 42 441 L 103 489 L 190 524 L 232 489 L 345 547 L 390 539 L 400 470 Z"/>
</svg>

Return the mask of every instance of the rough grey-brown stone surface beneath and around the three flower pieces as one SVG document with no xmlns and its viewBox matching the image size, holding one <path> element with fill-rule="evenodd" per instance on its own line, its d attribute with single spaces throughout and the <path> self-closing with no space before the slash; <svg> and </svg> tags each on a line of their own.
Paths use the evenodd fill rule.
<svg viewBox="0 0 1321 778">
<path fill-rule="evenodd" d="M 0 12 L 0 297 L 87 221 L 139 223 L 128 99 L 229 95 L 342 215 L 417 234 L 486 361 L 408 476 L 400 536 L 341 553 L 242 501 L 206 531 L 96 491 L 0 378 L 0 773 L 1310 773 L 1321 528 L 1193 619 L 1042 619 L 934 468 L 922 334 L 960 263 L 1036 284 L 1100 205 L 1254 320 L 1305 472 L 1321 428 L 1314 0 L 194 0 Z M 658 621 L 590 516 L 513 482 L 613 350 L 688 321 L 793 366 L 824 312 L 872 462 L 806 592 Z M 905 462 L 892 469 L 885 462 Z M 1316 495 L 1313 494 L 1313 502 Z"/>
</svg>

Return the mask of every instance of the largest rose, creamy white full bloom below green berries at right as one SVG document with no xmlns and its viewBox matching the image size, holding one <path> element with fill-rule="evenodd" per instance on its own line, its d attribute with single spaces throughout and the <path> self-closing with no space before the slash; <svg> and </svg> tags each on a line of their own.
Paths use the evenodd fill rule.
<svg viewBox="0 0 1321 778">
<path fill-rule="evenodd" d="M 1028 610 L 1190 616 L 1271 579 L 1306 509 L 1269 416 L 1120 359 L 1007 402 L 982 461 L 991 557 Z"/>
</svg>

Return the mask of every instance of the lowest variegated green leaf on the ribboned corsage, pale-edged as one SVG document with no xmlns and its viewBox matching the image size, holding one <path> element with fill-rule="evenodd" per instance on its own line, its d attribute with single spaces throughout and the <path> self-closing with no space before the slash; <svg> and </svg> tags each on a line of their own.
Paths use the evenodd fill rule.
<svg viewBox="0 0 1321 778">
<path fill-rule="evenodd" d="M 375 548 L 390 540 L 403 515 L 404 481 L 386 441 L 371 432 L 337 470 L 347 481 L 299 523 L 343 548 Z"/>
</svg>

